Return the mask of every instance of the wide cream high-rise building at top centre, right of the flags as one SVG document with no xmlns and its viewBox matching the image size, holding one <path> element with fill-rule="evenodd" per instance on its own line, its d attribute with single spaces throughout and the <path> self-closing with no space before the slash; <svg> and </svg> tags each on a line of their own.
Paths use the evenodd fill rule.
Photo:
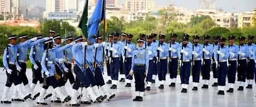
<svg viewBox="0 0 256 107">
<path fill-rule="evenodd" d="M 151 11 L 154 10 L 154 0 L 126 0 L 124 9 L 128 11 Z"/>
</svg>

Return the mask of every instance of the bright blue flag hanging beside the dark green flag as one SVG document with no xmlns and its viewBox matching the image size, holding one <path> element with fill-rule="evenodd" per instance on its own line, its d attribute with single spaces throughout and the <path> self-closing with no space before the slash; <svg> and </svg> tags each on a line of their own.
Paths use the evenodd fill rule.
<svg viewBox="0 0 256 107">
<path fill-rule="evenodd" d="M 105 0 L 98 0 L 92 13 L 92 17 L 88 21 L 88 40 L 90 40 L 91 43 L 95 42 L 93 37 L 98 34 L 98 26 L 104 18 Z"/>
</svg>

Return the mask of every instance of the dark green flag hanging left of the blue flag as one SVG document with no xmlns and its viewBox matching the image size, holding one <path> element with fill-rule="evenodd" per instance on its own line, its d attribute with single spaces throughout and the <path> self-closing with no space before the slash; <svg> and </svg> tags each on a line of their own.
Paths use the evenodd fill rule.
<svg viewBox="0 0 256 107">
<path fill-rule="evenodd" d="M 84 11 L 81 17 L 81 20 L 78 24 L 78 27 L 82 30 L 83 35 L 87 37 L 87 21 L 88 21 L 88 0 L 86 0 L 84 5 Z"/>
</svg>

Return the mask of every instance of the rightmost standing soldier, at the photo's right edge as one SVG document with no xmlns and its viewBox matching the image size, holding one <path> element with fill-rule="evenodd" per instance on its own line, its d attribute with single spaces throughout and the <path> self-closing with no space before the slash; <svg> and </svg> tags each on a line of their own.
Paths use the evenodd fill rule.
<svg viewBox="0 0 256 107">
<path fill-rule="evenodd" d="M 248 36 L 248 52 L 249 52 L 249 59 L 247 59 L 247 63 L 248 63 L 248 69 L 247 69 L 247 87 L 249 89 L 252 89 L 252 84 L 253 84 L 253 72 L 256 72 L 256 68 L 255 68 L 255 62 L 253 60 L 256 60 L 255 57 L 253 56 L 253 53 L 256 53 L 256 45 L 253 44 L 253 39 L 254 36 L 249 35 Z"/>
</svg>

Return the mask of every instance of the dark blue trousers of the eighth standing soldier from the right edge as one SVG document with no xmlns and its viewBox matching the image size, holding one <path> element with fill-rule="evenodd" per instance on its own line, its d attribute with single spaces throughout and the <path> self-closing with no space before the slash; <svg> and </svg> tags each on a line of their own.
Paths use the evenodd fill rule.
<svg viewBox="0 0 256 107">
<path fill-rule="evenodd" d="M 190 62 L 182 62 L 183 65 L 180 67 L 180 80 L 181 84 L 189 84 L 190 77 Z"/>
</svg>

